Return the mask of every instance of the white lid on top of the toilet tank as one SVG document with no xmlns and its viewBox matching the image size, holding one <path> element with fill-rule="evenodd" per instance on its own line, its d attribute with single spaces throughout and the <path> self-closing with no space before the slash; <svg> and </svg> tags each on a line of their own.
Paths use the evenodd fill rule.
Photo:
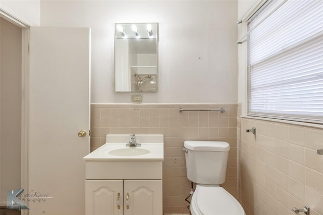
<svg viewBox="0 0 323 215">
<path fill-rule="evenodd" d="M 186 140 L 184 141 L 184 147 L 192 151 L 228 152 L 230 150 L 228 142 L 223 141 Z"/>
</svg>

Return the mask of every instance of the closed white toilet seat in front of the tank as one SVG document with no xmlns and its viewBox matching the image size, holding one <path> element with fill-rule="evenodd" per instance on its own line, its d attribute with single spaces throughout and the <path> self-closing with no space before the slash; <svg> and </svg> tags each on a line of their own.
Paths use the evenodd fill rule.
<svg viewBox="0 0 323 215">
<path fill-rule="evenodd" d="M 238 200 L 219 185 L 197 184 L 190 209 L 192 215 L 245 215 Z"/>
</svg>

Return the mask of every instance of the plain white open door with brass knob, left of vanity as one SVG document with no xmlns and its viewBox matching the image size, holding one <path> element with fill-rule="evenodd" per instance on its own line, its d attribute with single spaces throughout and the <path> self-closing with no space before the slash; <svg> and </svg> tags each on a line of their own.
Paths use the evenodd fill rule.
<svg viewBox="0 0 323 215">
<path fill-rule="evenodd" d="M 85 214 L 89 89 L 90 29 L 31 27 L 29 214 Z"/>
</svg>

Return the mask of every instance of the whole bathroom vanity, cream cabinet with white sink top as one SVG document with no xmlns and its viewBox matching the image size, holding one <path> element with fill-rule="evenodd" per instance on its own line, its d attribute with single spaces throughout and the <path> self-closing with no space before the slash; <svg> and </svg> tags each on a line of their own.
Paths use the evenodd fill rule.
<svg viewBox="0 0 323 215">
<path fill-rule="evenodd" d="M 130 136 L 134 136 L 133 134 Z M 163 215 L 164 135 L 107 134 L 85 161 L 86 215 Z"/>
</svg>

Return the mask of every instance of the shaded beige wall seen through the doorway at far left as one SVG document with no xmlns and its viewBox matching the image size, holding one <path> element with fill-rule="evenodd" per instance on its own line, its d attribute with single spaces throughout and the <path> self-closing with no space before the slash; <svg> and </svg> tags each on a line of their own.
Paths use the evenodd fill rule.
<svg viewBox="0 0 323 215">
<path fill-rule="evenodd" d="M 0 56 L 0 201 L 7 201 L 21 184 L 21 28 L 2 18 Z"/>
</svg>

